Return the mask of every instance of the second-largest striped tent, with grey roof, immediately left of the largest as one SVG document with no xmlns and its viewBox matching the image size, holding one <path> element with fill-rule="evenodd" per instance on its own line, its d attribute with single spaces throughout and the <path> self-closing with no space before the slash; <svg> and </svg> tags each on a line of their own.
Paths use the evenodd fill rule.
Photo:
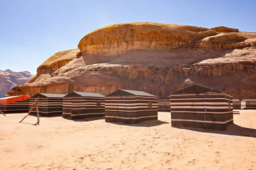
<svg viewBox="0 0 256 170">
<path fill-rule="evenodd" d="M 139 123 L 157 120 L 157 96 L 143 91 L 117 90 L 105 96 L 105 121 Z"/>
</svg>

